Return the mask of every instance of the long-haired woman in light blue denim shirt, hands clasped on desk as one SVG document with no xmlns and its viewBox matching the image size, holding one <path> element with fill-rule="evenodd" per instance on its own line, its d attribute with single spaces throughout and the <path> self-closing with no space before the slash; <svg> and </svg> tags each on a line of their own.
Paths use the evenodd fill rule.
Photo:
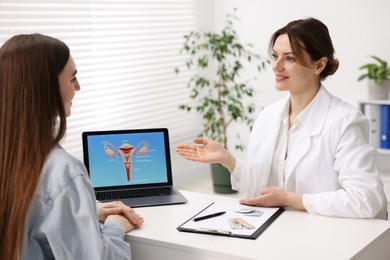
<svg viewBox="0 0 390 260">
<path fill-rule="evenodd" d="M 76 73 L 49 36 L 17 35 L 0 49 L 0 259 L 131 257 L 123 238 L 142 217 L 96 203 L 84 165 L 59 145 Z"/>
</svg>

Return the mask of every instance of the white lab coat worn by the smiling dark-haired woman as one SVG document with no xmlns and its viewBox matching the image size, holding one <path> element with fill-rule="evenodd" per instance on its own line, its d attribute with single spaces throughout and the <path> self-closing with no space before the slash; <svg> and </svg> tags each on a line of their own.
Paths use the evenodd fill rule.
<svg viewBox="0 0 390 260">
<path fill-rule="evenodd" d="M 268 187 L 281 113 L 288 99 L 260 113 L 247 161 L 236 161 L 232 187 L 248 197 Z M 387 202 L 375 164 L 376 150 L 368 145 L 368 120 L 323 86 L 314 102 L 285 165 L 286 186 L 279 181 L 279 187 L 303 194 L 303 204 L 312 214 L 385 219 Z"/>
</svg>

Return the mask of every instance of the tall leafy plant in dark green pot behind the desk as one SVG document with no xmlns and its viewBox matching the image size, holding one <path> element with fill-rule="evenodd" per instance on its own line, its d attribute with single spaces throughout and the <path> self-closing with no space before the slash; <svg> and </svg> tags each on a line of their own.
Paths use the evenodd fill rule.
<svg viewBox="0 0 390 260">
<path fill-rule="evenodd" d="M 189 55 L 185 69 L 194 70 L 187 88 L 194 104 L 182 104 L 179 109 L 196 111 L 203 117 L 203 131 L 207 137 L 228 147 L 228 128 L 233 122 L 248 128 L 253 124 L 255 105 L 252 101 L 254 88 L 251 80 L 243 79 L 241 72 L 249 65 L 261 72 L 269 61 L 256 54 L 251 44 L 243 45 L 233 21 L 235 15 L 227 15 L 226 23 L 219 33 L 191 31 L 184 36 L 182 53 Z M 180 73 L 180 68 L 175 72 Z M 254 80 L 253 78 L 252 80 Z M 236 149 L 243 149 L 237 133 Z M 230 174 L 220 165 L 211 165 L 214 191 L 232 193 Z"/>
</svg>

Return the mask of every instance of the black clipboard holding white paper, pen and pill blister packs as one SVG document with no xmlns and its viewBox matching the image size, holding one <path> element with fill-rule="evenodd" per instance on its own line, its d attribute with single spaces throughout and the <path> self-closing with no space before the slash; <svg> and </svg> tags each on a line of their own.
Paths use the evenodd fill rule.
<svg viewBox="0 0 390 260">
<path fill-rule="evenodd" d="M 213 202 L 177 227 L 177 230 L 199 234 L 256 239 L 283 211 L 284 209 L 281 207 L 265 208 L 246 206 L 239 203 Z M 195 218 L 217 212 L 225 213 L 216 217 L 194 221 Z M 235 222 L 240 225 L 237 225 Z"/>
</svg>

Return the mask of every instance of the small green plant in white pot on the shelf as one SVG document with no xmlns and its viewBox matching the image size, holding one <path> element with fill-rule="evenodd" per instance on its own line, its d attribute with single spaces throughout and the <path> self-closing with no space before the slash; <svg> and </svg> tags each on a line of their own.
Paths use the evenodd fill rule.
<svg viewBox="0 0 390 260">
<path fill-rule="evenodd" d="M 390 67 L 387 62 L 377 56 L 371 56 L 376 63 L 362 65 L 359 70 L 365 70 L 358 81 L 368 79 L 368 96 L 370 99 L 387 99 L 390 89 Z"/>
</svg>

